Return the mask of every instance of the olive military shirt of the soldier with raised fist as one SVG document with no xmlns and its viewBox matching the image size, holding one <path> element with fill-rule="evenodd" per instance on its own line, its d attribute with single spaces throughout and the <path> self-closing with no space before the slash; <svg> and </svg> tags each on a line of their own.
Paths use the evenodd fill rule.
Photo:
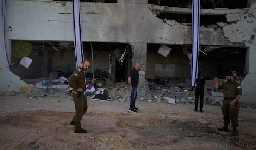
<svg viewBox="0 0 256 150">
<path fill-rule="evenodd" d="M 225 80 L 221 85 L 219 85 L 218 90 L 223 89 L 223 96 L 224 99 L 232 100 L 235 99 L 237 95 L 242 95 L 242 87 L 241 83 L 233 80 L 231 82 L 228 82 Z"/>
</svg>

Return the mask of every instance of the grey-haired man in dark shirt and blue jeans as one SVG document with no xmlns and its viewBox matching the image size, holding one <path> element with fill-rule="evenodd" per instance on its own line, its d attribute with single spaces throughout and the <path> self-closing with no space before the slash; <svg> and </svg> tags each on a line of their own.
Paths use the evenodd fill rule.
<svg viewBox="0 0 256 150">
<path fill-rule="evenodd" d="M 138 108 L 135 107 L 135 101 L 137 98 L 137 88 L 139 84 L 140 68 L 143 68 L 143 65 L 137 62 L 137 64 L 131 69 L 130 75 L 128 77 L 128 82 L 129 82 L 130 91 L 131 91 L 131 102 L 130 102 L 130 109 L 129 109 L 131 113 L 137 113 L 137 110 L 139 110 Z"/>
</svg>

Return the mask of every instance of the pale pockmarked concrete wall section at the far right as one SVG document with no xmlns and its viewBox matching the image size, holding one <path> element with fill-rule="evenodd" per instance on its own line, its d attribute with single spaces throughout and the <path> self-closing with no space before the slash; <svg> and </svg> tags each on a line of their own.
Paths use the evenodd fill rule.
<svg viewBox="0 0 256 150">
<path fill-rule="evenodd" d="M 247 102 L 255 102 L 256 91 L 256 3 L 254 3 L 250 10 L 241 16 L 227 15 L 229 20 L 238 20 L 236 23 L 223 27 L 223 34 L 230 42 L 243 42 L 248 47 L 247 49 L 247 75 L 242 84 L 243 96 L 241 100 Z"/>
</svg>

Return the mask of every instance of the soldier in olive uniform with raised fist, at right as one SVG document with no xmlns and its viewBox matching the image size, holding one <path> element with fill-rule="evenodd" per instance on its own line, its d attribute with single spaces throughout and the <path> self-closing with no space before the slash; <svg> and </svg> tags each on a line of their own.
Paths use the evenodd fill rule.
<svg viewBox="0 0 256 150">
<path fill-rule="evenodd" d="M 238 127 L 238 100 L 242 96 L 242 88 L 240 82 L 233 79 L 232 72 L 227 72 L 225 76 L 226 80 L 223 83 L 221 83 L 221 85 L 218 85 L 218 78 L 215 78 L 216 90 L 223 89 L 224 95 L 222 105 L 224 127 L 218 128 L 218 130 L 228 132 L 228 125 L 230 124 L 231 119 L 231 127 L 233 127 L 233 130 L 230 136 L 237 136 L 238 132 L 236 128 Z"/>
</svg>

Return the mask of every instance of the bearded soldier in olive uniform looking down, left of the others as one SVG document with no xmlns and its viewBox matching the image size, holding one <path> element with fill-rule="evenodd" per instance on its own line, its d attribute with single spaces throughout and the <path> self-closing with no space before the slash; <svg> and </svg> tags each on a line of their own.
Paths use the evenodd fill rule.
<svg viewBox="0 0 256 150">
<path fill-rule="evenodd" d="M 70 125 L 74 125 L 76 133 L 87 133 L 86 130 L 81 128 L 81 119 L 84 116 L 84 113 L 87 111 L 87 99 L 84 95 L 86 91 L 85 85 L 85 74 L 89 68 L 90 62 L 84 59 L 78 69 L 68 79 L 68 83 L 72 87 L 72 98 L 75 102 L 76 116 L 73 117 L 73 120 L 70 122 Z"/>
</svg>

